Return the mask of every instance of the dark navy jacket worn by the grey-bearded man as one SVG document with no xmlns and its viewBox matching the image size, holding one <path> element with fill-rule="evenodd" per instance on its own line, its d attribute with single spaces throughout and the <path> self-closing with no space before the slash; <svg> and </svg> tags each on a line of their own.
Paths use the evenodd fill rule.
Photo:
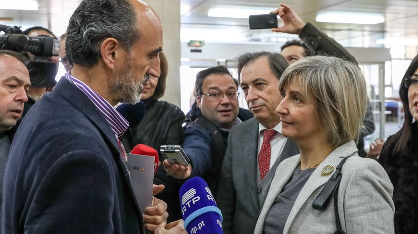
<svg viewBox="0 0 418 234">
<path fill-rule="evenodd" d="M 29 110 L 13 140 L 1 231 L 144 233 L 110 125 L 65 78 Z"/>
</svg>

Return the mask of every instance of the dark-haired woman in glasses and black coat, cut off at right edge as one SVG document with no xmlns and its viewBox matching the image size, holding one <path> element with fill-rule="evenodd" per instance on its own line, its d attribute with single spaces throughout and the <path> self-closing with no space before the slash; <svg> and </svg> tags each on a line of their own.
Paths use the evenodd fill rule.
<svg viewBox="0 0 418 234">
<path fill-rule="evenodd" d="M 418 232 L 418 55 L 399 88 L 404 125 L 383 145 L 379 161 L 388 172 L 394 191 L 395 233 Z"/>
</svg>

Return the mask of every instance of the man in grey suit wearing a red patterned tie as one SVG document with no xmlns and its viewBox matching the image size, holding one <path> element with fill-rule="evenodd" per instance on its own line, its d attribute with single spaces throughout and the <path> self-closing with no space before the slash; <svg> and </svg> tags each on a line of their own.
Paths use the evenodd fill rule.
<svg viewBox="0 0 418 234">
<path fill-rule="evenodd" d="M 279 79 L 288 67 L 277 53 L 246 53 L 238 58 L 238 78 L 254 118 L 231 129 L 220 171 L 217 203 L 224 234 L 252 234 L 277 165 L 299 154 L 281 134 L 276 107 Z"/>
</svg>

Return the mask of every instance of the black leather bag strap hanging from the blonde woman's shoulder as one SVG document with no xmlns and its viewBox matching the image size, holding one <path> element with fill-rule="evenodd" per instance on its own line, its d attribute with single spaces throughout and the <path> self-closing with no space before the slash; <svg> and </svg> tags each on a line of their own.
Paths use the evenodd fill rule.
<svg viewBox="0 0 418 234">
<path fill-rule="evenodd" d="M 314 200 L 314 203 L 312 204 L 312 208 L 315 210 L 326 211 L 329 207 L 329 204 L 331 203 L 332 197 L 334 198 L 335 226 L 337 228 L 334 234 L 345 234 L 345 232 L 341 229 L 341 223 L 338 215 L 338 187 L 342 177 L 342 165 L 349 157 L 353 155 L 354 154 L 346 156 L 340 161 L 337 168 L 335 169 L 335 173 L 325 183 L 322 191 L 318 194 Z"/>
</svg>

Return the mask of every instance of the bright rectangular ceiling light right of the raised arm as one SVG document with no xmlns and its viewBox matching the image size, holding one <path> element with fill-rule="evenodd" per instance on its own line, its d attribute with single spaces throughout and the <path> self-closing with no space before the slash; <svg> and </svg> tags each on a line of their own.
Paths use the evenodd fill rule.
<svg viewBox="0 0 418 234">
<path fill-rule="evenodd" d="M 385 17 L 379 13 L 319 11 L 316 14 L 316 21 L 327 23 L 378 24 L 385 22 Z"/>
</svg>

